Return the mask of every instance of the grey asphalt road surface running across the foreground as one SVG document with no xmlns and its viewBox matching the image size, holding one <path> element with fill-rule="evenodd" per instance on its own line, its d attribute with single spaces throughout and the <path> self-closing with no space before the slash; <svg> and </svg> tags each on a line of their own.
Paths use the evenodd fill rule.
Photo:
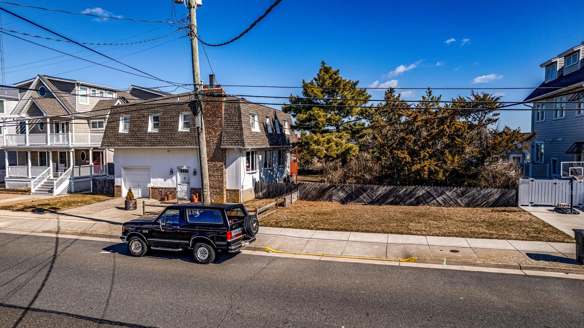
<svg viewBox="0 0 584 328">
<path fill-rule="evenodd" d="M 582 327 L 583 295 L 565 278 L 249 254 L 204 266 L 0 233 L 2 327 Z"/>
</svg>

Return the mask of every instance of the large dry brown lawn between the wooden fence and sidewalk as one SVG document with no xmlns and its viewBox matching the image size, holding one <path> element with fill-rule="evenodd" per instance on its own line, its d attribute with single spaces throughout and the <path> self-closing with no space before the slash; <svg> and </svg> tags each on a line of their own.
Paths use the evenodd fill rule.
<svg viewBox="0 0 584 328">
<path fill-rule="evenodd" d="M 248 210 L 272 200 L 251 200 Z M 260 225 L 398 235 L 536 240 L 574 239 L 519 207 L 461 208 L 339 204 L 298 201 L 260 220 Z"/>
</svg>

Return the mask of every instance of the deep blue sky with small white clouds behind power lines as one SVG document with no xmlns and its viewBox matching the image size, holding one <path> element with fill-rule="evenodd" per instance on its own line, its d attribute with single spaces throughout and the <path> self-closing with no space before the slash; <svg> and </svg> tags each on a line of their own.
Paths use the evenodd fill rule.
<svg viewBox="0 0 584 328">
<path fill-rule="evenodd" d="M 124 18 L 166 20 L 171 17 L 172 0 L 158 1 L 48 1 L 14 0 L 45 8 L 82 12 L 107 11 Z M 208 43 L 221 43 L 237 36 L 271 5 L 273 0 L 203 0 L 197 9 L 200 35 Z M 137 5 L 138 4 L 138 5 Z M 207 47 L 207 54 L 223 85 L 299 86 L 311 79 L 322 60 L 340 69 L 343 77 L 359 80 L 359 86 L 398 88 L 505 88 L 537 86 L 544 78 L 538 65 L 584 41 L 584 30 L 566 22 L 581 22 L 582 1 L 293 1 L 284 0 L 272 13 L 244 37 L 223 47 Z M 87 16 L 50 13 L 38 9 L 4 8 L 50 27 L 65 36 L 92 43 L 113 43 L 156 27 L 161 28 L 121 42 L 140 41 L 168 34 L 173 27 L 157 23 L 92 19 Z M 99 9 L 98 9 L 99 8 Z M 556 8 L 556 9 L 552 9 Z M 179 15 L 186 13 L 177 5 Z M 44 16 L 40 16 L 44 15 Z M 40 16 L 35 18 L 36 16 Z M 554 25 L 553 20 L 558 20 Z M 561 22 L 561 24 L 559 24 Z M 41 36 L 51 34 L 2 13 L 5 29 Z M 161 40 L 132 46 L 103 46 L 110 57 L 139 68 L 166 81 L 192 83 L 190 48 L 186 38 L 175 34 Z M 54 37 L 54 36 L 52 36 Z M 173 41 L 171 41 L 173 40 Z M 449 41 L 447 40 L 454 40 Z M 81 51 L 73 44 L 34 39 L 67 53 Z M 168 43 L 165 43 L 170 41 Z M 165 43 L 165 44 L 162 44 Z M 157 46 L 162 44 L 161 46 Z M 4 36 L 6 83 L 12 84 L 36 74 L 79 79 L 116 88 L 131 84 L 161 86 L 152 81 L 93 66 L 88 62 Z M 145 50 L 147 49 L 147 50 Z M 136 51 L 144 50 L 137 54 Z M 201 76 L 207 80 L 211 70 L 200 47 Z M 87 56 L 89 51 L 75 55 Z M 129 54 L 129 55 L 128 55 Z M 89 55 L 88 60 L 106 58 Z M 65 62 L 61 62 L 68 60 Z M 34 61 L 34 64 L 22 65 Z M 48 65 L 47 65 L 48 64 Z M 121 69 L 119 64 L 106 62 Z M 21 65 L 14 67 L 15 65 Z M 44 65 L 43 67 L 37 67 Z M 72 72 L 68 72 L 72 71 Z M 66 72 L 66 73 L 65 73 Z M 477 79 L 478 78 L 478 79 Z M 377 81 L 377 83 L 376 83 Z M 475 82 L 475 83 L 473 83 Z M 385 84 L 384 84 L 385 83 Z M 172 92 L 173 88 L 165 90 Z M 288 96 L 298 89 L 235 88 L 227 93 L 242 95 Z M 176 92 L 183 92 L 178 89 Z M 405 99 L 417 100 L 421 90 L 400 90 Z M 470 90 L 437 90 L 444 99 L 467 95 Z M 492 90 L 503 100 L 521 101 L 530 90 Z M 383 90 L 371 90 L 374 99 Z M 247 97 L 248 99 L 251 99 Z M 253 100 L 253 99 L 252 99 Z M 260 100 L 259 102 L 282 102 Z M 524 106 L 517 106 L 526 108 Z M 529 111 L 505 111 L 500 123 L 530 130 Z"/>
</svg>

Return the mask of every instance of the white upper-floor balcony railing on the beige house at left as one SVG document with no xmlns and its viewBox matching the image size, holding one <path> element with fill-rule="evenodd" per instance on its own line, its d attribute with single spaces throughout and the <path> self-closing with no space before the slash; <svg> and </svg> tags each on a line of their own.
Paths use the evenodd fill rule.
<svg viewBox="0 0 584 328">
<path fill-rule="evenodd" d="M 7 146 L 101 145 L 102 139 L 103 134 L 100 133 L 6 134 L 4 144 Z"/>
</svg>

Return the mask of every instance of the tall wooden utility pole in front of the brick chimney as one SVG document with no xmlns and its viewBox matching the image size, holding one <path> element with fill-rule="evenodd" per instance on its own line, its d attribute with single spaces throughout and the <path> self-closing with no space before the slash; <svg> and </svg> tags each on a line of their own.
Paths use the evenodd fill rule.
<svg viewBox="0 0 584 328">
<path fill-rule="evenodd" d="M 201 83 L 201 73 L 199 71 L 199 44 L 197 43 L 197 6 L 201 5 L 201 0 L 186 0 L 189 7 L 189 27 L 190 27 L 190 51 L 193 58 L 193 83 L 196 100 L 194 106 L 191 106 L 193 118 L 197 132 L 199 132 L 199 161 L 201 163 L 201 200 L 209 201 L 209 170 L 207 165 L 207 141 L 205 138 L 205 124 L 203 120 L 203 103 L 199 93 Z M 193 105 L 193 104 L 192 104 Z M 199 118 L 197 120 L 197 117 Z M 198 121 L 198 122 L 197 122 Z M 197 124 L 198 123 L 198 124 Z"/>
</svg>

